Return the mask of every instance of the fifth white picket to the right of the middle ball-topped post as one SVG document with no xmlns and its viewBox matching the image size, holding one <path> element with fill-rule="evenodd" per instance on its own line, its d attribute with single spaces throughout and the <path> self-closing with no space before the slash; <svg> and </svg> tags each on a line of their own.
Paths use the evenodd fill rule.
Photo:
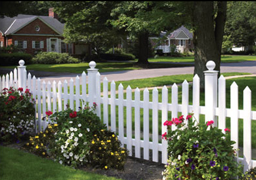
<svg viewBox="0 0 256 180">
<path fill-rule="evenodd" d="M 126 134 L 127 134 L 127 149 L 129 151 L 129 156 L 133 155 L 132 151 L 132 134 L 133 134 L 133 127 L 132 127 L 132 120 L 131 120 L 131 86 L 128 86 L 126 89 Z"/>
</svg>

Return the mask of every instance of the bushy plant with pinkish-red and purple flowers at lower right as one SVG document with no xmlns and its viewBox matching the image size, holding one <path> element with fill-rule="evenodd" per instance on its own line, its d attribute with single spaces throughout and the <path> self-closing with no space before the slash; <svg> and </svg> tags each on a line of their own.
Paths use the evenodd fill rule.
<svg viewBox="0 0 256 180">
<path fill-rule="evenodd" d="M 167 129 L 177 126 L 169 134 L 163 134 L 168 141 L 169 160 L 163 172 L 165 179 L 231 179 L 242 176 L 242 166 L 234 158 L 229 130 L 226 134 L 213 127 L 213 120 L 196 124 L 192 115 L 165 122 Z"/>
</svg>

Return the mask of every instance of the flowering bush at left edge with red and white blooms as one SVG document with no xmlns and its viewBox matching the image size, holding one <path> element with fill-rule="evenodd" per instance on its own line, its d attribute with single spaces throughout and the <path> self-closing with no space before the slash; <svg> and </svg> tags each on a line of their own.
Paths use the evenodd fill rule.
<svg viewBox="0 0 256 180">
<path fill-rule="evenodd" d="M 19 142 L 34 130 L 35 109 L 30 91 L 22 88 L 4 88 L 0 96 L 0 141 Z"/>
</svg>

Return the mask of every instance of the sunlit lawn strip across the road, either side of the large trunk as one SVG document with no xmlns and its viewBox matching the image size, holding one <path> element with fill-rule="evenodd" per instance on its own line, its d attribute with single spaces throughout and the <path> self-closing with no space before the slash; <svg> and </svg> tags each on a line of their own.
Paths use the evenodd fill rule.
<svg viewBox="0 0 256 180">
<path fill-rule="evenodd" d="M 256 56 L 232 56 L 232 55 L 224 55 L 221 56 L 222 63 L 232 63 L 232 62 L 244 62 L 244 61 L 256 61 Z M 191 63 L 194 62 L 194 57 L 182 57 L 182 58 L 174 58 L 167 56 L 158 56 L 158 58 L 150 58 L 149 62 L 183 62 L 183 63 Z"/>
</svg>

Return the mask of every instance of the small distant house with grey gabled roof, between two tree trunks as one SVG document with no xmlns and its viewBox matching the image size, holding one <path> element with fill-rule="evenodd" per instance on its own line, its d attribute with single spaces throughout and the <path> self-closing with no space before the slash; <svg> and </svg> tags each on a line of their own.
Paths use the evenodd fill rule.
<svg viewBox="0 0 256 180">
<path fill-rule="evenodd" d="M 171 52 L 171 46 L 176 46 L 179 52 L 186 50 L 193 50 L 193 33 L 191 33 L 186 27 L 181 26 L 172 33 L 167 35 L 166 32 L 162 31 L 160 37 L 151 37 L 152 45 L 155 49 L 163 50 L 163 53 Z"/>
</svg>

